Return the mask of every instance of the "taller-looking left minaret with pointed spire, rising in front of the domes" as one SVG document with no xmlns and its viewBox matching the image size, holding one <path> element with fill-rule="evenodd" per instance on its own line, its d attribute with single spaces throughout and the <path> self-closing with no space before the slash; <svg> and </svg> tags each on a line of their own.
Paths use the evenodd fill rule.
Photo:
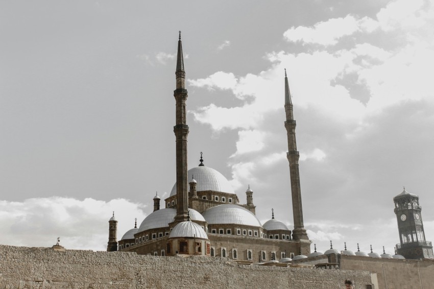
<svg viewBox="0 0 434 289">
<path fill-rule="evenodd" d="M 182 56 L 181 31 L 178 40 L 178 56 L 176 59 L 176 126 L 173 131 L 176 136 L 176 216 L 175 222 L 187 220 L 188 214 L 188 180 L 187 180 L 187 135 L 185 101 L 187 90 L 185 89 L 184 59 Z"/>
</svg>

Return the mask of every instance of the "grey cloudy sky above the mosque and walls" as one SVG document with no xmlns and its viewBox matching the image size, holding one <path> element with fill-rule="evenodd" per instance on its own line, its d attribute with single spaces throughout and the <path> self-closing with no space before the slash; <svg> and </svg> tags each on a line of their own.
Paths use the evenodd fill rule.
<svg viewBox="0 0 434 289">
<path fill-rule="evenodd" d="M 403 186 L 434 240 L 434 1 L 2 0 L 0 244 L 106 250 L 168 197 L 178 31 L 190 168 L 293 228 L 286 68 L 311 250 L 393 254 Z"/>
</svg>

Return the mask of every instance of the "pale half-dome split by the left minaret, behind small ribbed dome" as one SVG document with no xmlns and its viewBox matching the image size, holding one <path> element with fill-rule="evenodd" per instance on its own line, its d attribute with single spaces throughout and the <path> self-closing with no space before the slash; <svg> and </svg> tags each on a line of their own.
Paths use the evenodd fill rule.
<svg viewBox="0 0 434 289">
<path fill-rule="evenodd" d="M 190 219 L 193 221 L 205 222 L 203 216 L 194 209 L 188 209 L 190 211 Z M 176 209 L 174 208 L 164 208 L 156 210 L 150 213 L 143 222 L 141 222 L 138 232 L 168 227 L 169 223 L 172 223 L 176 216 Z"/>
</svg>

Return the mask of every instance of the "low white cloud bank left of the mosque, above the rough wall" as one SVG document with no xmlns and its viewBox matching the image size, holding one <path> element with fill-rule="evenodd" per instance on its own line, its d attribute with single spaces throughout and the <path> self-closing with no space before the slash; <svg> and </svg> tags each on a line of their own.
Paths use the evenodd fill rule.
<svg viewBox="0 0 434 289">
<path fill-rule="evenodd" d="M 109 202 L 91 198 L 33 198 L 22 202 L 0 201 L 0 244 L 50 247 L 60 237 L 66 249 L 106 250 L 108 220 L 118 221 L 118 239 L 144 219 L 143 204 L 125 199 Z"/>
</svg>

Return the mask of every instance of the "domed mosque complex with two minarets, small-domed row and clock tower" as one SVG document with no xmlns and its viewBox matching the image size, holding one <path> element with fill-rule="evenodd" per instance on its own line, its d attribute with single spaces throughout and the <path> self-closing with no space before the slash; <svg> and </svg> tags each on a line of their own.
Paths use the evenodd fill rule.
<svg viewBox="0 0 434 289">
<path fill-rule="evenodd" d="M 294 228 L 274 218 L 261 224 L 256 217 L 253 190 L 246 190 L 245 204 L 235 194 L 229 181 L 218 171 L 205 165 L 201 153 L 198 166 L 187 170 L 187 135 L 185 70 L 181 33 L 176 64 L 176 183 L 164 200 L 153 198 L 154 211 L 137 227 L 128 230 L 117 241 L 117 221 L 113 213 L 109 221 L 107 251 L 136 252 L 142 255 L 174 256 L 205 255 L 228 257 L 242 264 L 315 261 L 319 256 L 344 254 L 378 258 L 434 258 L 432 246 L 424 238 L 421 206 L 417 195 L 404 191 L 394 198 L 400 244 L 394 256 L 377 253 L 337 251 L 332 246 L 324 253 L 310 252 L 303 225 L 299 177 L 299 152 L 296 143 L 296 121 L 285 71 L 284 109 L 287 133 L 287 159 L 290 166 L 291 199 Z M 289 198 L 289 196 L 288 196 Z M 280 261 L 278 261 L 280 260 Z M 336 260 L 334 260 L 336 261 Z M 315 263 L 315 262 L 314 262 Z M 328 263 L 333 260 L 328 259 Z M 335 262 L 334 262 L 335 263 Z"/>
</svg>

